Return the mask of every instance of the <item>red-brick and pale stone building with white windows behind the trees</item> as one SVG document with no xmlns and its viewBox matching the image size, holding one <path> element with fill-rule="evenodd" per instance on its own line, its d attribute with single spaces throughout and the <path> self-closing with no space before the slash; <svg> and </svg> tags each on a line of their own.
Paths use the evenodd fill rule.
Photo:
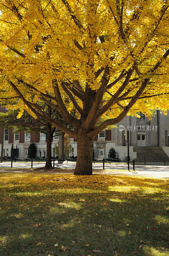
<svg viewBox="0 0 169 256">
<path fill-rule="evenodd" d="M 168 112 L 169 114 L 169 112 Z M 136 116 L 126 116 L 117 128 L 104 130 L 95 137 L 94 153 L 95 157 L 102 159 L 108 157 L 110 148 L 115 148 L 117 157 L 127 156 L 127 143 L 125 141 L 124 130 L 120 131 L 119 125 L 130 129 L 130 157 L 141 161 L 143 155 L 149 157 L 149 161 L 162 161 L 164 156 L 169 159 L 169 115 L 156 115 L 149 120 L 140 112 L 140 118 Z M 59 140 L 59 132 L 56 129 L 52 141 L 52 156 L 54 152 L 54 144 Z M 0 143 L 2 141 L 2 129 L 0 129 Z M 18 132 L 12 133 L 12 129 L 4 130 L 4 156 L 11 155 L 11 145 L 15 142 L 19 151 L 19 158 L 25 159 L 28 153 L 29 144 L 35 142 L 37 144 L 37 156 L 46 156 L 46 135 L 39 132 Z M 77 156 L 77 143 L 71 138 L 72 153 L 69 156 Z M 0 144 L 1 149 L 1 144 Z M 140 155 L 141 154 L 141 155 Z M 159 157 L 158 157 L 159 156 Z"/>
</svg>

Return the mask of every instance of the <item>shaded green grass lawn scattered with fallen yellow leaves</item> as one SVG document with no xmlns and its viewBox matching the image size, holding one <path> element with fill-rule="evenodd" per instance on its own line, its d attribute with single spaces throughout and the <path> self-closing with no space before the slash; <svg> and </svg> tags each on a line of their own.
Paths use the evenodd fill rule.
<svg viewBox="0 0 169 256">
<path fill-rule="evenodd" d="M 0 173 L 0 255 L 169 255 L 167 182 Z"/>
</svg>

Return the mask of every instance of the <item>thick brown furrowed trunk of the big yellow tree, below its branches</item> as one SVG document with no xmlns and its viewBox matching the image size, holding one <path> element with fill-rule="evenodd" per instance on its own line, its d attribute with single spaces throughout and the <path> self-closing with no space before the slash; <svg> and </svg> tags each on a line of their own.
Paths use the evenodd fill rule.
<svg viewBox="0 0 169 256">
<path fill-rule="evenodd" d="M 75 175 L 92 175 L 92 156 L 94 139 L 90 139 L 82 132 L 77 137 L 77 162 Z"/>
</svg>

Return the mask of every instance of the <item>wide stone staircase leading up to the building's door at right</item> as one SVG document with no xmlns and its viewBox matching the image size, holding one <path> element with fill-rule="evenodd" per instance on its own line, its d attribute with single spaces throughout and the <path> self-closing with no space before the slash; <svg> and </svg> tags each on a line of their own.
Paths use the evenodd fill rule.
<svg viewBox="0 0 169 256">
<path fill-rule="evenodd" d="M 169 157 L 161 147 L 133 147 L 133 152 L 137 152 L 135 162 L 169 162 Z"/>
</svg>

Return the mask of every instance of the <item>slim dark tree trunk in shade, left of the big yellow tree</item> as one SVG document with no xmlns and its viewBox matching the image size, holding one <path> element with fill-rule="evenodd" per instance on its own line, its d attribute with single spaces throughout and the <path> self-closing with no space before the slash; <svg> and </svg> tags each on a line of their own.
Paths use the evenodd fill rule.
<svg viewBox="0 0 169 256">
<path fill-rule="evenodd" d="M 52 167 L 52 131 L 51 131 L 51 124 L 48 123 L 47 125 L 47 132 L 46 132 L 46 164 L 45 168 Z"/>
</svg>

